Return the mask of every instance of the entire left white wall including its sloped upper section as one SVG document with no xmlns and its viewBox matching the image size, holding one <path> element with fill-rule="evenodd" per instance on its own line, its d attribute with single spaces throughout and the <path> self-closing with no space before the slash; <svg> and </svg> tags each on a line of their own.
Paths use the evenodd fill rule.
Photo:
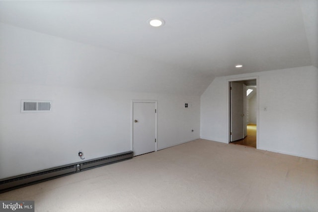
<svg viewBox="0 0 318 212">
<path fill-rule="evenodd" d="M 0 179 L 131 150 L 133 99 L 158 100 L 158 149 L 198 139 L 201 78 L 0 23 Z M 20 113 L 21 99 L 53 111 Z"/>
</svg>

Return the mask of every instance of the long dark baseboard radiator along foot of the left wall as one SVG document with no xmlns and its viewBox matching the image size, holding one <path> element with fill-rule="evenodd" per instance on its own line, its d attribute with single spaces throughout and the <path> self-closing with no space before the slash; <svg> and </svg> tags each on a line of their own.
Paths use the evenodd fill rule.
<svg viewBox="0 0 318 212">
<path fill-rule="evenodd" d="M 63 177 L 69 174 L 74 174 L 80 171 L 85 171 L 91 168 L 127 160 L 133 158 L 134 152 L 127 151 L 118 154 L 113 154 L 106 157 L 99 157 L 92 160 L 86 160 L 83 163 L 74 163 L 64 166 L 58 166 L 51 169 L 23 174 L 15 177 L 9 177 L 0 180 L 0 193 L 7 192 L 13 189 L 24 186 L 40 183 L 43 181 Z"/>
</svg>

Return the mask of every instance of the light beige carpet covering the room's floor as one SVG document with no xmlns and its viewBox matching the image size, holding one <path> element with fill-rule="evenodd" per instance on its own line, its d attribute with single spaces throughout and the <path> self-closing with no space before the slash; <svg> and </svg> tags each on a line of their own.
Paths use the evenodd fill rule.
<svg viewBox="0 0 318 212">
<path fill-rule="evenodd" d="M 314 212 L 318 161 L 196 140 L 0 194 L 36 212 Z"/>
</svg>

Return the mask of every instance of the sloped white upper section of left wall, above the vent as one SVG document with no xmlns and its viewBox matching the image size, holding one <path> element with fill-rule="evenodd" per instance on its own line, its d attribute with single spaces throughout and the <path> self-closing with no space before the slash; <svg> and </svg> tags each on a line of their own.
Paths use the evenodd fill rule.
<svg viewBox="0 0 318 212">
<path fill-rule="evenodd" d="M 211 77 L 0 23 L 0 82 L 201 95 Z"/>
</svg>

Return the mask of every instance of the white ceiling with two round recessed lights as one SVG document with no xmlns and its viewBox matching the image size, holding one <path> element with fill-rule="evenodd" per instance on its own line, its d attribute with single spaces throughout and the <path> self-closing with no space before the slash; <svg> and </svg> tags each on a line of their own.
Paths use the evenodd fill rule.
<svg viewBox="0 0 318 212">
<path fill-rule="evenodd" d="M 192 94 L 215 76 L 318 67 L 317 14 L 318 0 L 0 1 L 3 24 L 183 70 L 204 79 Z"/>
</svg>

